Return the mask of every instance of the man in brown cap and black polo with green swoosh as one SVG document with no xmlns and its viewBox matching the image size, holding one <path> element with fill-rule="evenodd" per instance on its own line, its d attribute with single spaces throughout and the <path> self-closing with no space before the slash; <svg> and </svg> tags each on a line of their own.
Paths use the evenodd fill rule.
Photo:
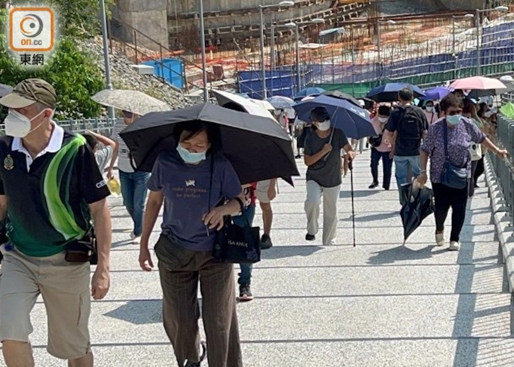
<svg viewBox="0 0 514 367">
<path fill-rule="evenodd" d="M 9 108 L 0 138 L 0 221 L 9 237 L 0 247 L 0 341 L 8 367 L 34 365 L 30 311 L 39 295 L 48 352 L 72 367 L 93 366 L 90 296 L 102 299 L 109 288 L 109 191 L 85 138 L 52 121 L 56 103 L 56 91 L 41 79 L 24 80 L 0 99 Z M 79 240 L 88 239 L 91 217 L 98 265 L 89 288 Z"/>
</svg>

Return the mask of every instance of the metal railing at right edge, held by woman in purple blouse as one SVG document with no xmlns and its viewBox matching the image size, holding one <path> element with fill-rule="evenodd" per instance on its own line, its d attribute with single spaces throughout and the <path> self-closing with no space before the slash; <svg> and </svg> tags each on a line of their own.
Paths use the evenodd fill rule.
<svg viewBox="0 0 514 367">
<path fill-rule="evenodd" d="M 514 120 L 498 115 L 498 130 L 495 143 L 499 148 L 514 152 Z M 512 156 L 502 159 L 495 154 L 488 154 L 488 160 L 497 177 L 498 185 L 511 216 L 514 216 L 514 166 Z"/>
</svg>

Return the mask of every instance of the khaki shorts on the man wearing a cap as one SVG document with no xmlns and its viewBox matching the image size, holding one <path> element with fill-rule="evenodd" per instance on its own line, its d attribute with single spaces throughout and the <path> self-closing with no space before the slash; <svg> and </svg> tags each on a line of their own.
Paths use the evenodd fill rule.
<svg viewBox="0 0 514 367">
<path fill-rule="evenodd" d="M 48 353 L 61 359 L 89 353 L 89 263 L 69 263 L 64 252 L 34 258 L 16 249 L 0 250 L 0 341 L 29 341 L 30 311 L 41 294 L 48 317 Z"/>
</svg>

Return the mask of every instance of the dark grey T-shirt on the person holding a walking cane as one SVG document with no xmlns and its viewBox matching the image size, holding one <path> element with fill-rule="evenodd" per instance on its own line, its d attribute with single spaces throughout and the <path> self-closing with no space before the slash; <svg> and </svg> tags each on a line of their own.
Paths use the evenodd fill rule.
<svg viewBox="0 0 514 367">
<path fill-rule="evenodd" d="M 323 149 L 323 145 L 328 142 L 330 142 L 330 135 L 322 139 L 317 132 L 308 134 L 305 138 L 305 154 L 314 155 L 318 153 Z M 322 187 L 341 185 L 341 149 L 346 144 L 348 144 L 348 140 L 344 133 L 339 129 L 335 129 L 332 138 L 332 151 L 328 153 L 326 160 L 321 158 L 312 166 L 309 166 L 307 169 L 307 181 L 316 181 Z"/>
</svg>

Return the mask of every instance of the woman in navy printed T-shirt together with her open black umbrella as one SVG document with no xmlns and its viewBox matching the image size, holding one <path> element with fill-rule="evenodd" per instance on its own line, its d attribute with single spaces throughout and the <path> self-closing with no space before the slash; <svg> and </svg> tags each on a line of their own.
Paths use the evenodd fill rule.
<svg viewBox="0 0 514 367">
<path fill-rule="evenodd" d="M 210 103 L 145 115 L 120 135 L 137 170 L 152 171 L 139 252 L 144 271 L 153 268 L 150 235 L 164 205 L 155 253 L 178 366 L 199 366 L 205 352 L 212 367 L 242 366 L 233 276 L 239 259 L 216 257 L 224 238 L 217 231 L 243 205 L 243 185 L 298 175 L 289 136 L 272 118 Z"/>
</svg>

